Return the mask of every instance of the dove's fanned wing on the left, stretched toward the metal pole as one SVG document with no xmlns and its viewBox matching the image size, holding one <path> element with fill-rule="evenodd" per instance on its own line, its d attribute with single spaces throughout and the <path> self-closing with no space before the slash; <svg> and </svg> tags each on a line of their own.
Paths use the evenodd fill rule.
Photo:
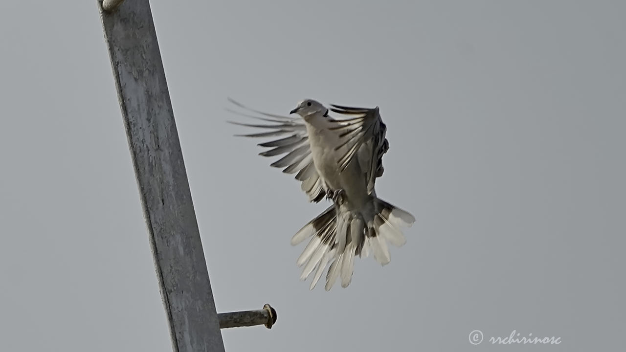
<svg viewBox="0 0 626 352">
<path fill-rule="evenodd" d="M 252 110 L 230 98 L 228 100 L 240 108 L 262 115 L 263 117 L 239 113 L 233 110 L 229 111 L 240 116 L 255 118 L 257 120 L 271 123 L 265 125 L 255 125 L 229 121 L 235 125 L 264 128 L 268 130 L 267 132 L 250 133 L 247 135 L 237 136 L 254 138 L 280 137 L 279 139 L 270 140 L 269 142 L 259 143 L 261 147 L 270 148 L 270 150 L 261 152 L 259 155 L 264 157 L 274 157 L 276 155 L 287 154 L 279 160 L 271 163 L 270 166 L 284 168 L 282 172 L 285 173 L 295 173 L 295 179 L 302 181 L 301 188 L 309 196 L 309 202 L 317 203 L 324 199 L 326 191 L 324 190 L 322 179 L 319 177 L 319 173 L 317 173 L 317 169 L 313 163 L 313 156 L 311 155 L 309 144 L 309 135 L 307 135 L 307 128 L 304 125 L 304 122 L 302 122 L 302 119 Z"/>
</svg>

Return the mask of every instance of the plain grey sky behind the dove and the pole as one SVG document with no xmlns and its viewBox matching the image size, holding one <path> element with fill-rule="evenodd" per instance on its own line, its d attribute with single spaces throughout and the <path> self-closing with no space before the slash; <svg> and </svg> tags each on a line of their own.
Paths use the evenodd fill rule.
<svg viewBox="0 0 626 352">
<path fill-rule="evenodd" d="M 623 348 L 626 3 L 152 11 L 217 309 L 279 314 L 228 351 Z M 1 349 L 170 351 L 96 1 L 3 2 L 0 33 Z M 418 219 L 389 265 L 299 281 L 289 239 L 326 204 L 232 137 L 227 96 L 380 106 L 377 194 Z M 513 329 L 562 343 L 488 343 Z"/>
</svg>

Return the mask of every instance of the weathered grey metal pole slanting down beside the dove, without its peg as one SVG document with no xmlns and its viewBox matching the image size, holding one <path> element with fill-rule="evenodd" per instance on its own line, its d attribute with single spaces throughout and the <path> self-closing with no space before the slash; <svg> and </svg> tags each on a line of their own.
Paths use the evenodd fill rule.
<svg viewBox="0 0 626 352">
<path fill-rule="evenodd" d="M 175 352 L 224 351 L 148 0 L 98 0 Z"/>
</svg>

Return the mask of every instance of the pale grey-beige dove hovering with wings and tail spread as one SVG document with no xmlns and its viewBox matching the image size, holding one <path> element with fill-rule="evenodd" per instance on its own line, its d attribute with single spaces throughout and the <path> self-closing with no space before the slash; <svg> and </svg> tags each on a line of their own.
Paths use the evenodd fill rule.
<svg viewBox="0 0 626 352">
<path fill-rule="evenodd" d="M 239 135 L 271 138 L 259 143 L 270 148 L 260 153 L 265 157 L 286 154 L 271 164 L 295 173 L 310 202 L 332 200 L 332 205 L 310 220 L 291 239 L 292 246 L 309 239 L 297 259 L 302 268 L 301 280 L 314 272 L 313 289 L 324 269 L 326 290 L 337 278 L 347 287 L 352 280 L 354 257 L 367 257 L 372 252 L 381 265 L 391 257 L 387 242 L 403 246 L 403 227 L 411 227 L 413 215 L 379 199 L 374 185 L 382 176 L 382 156 L 389 149 L 386 125 L 379 108 L 351 108 L 330 105 L 326 108 L 315 100 L 302 100 L 289 116 L 253 110 L 230 100 L 248 113 L 238 113 L 266 122 L 252 124 L 231 122 L 245 127 L 262 128 L 265 132 Z M 232 112 L 235 112 L 231 110 Z M 331 112 L 337 114 L 331 116 Z M 235 112 L 237 113 L 237 112 Z M 254 114 L 251 115 L 250 113 Z"/>
</svg>

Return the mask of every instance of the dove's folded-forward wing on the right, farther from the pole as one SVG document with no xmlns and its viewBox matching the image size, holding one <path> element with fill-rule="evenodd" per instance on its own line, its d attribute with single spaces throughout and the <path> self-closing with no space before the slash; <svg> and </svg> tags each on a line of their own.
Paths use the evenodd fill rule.
<svg viewBox="0 0 626 352">
<path fill-rule="evenodd" d="M 349 116 L 336 120 L 339 124 L 331 128 L 340 132 L 341 143 L 335 148 L 345 148 L 347 152 L 339 159 L 339 170 L 343 171 L 355 155 L 366 175 L 367 192 L 374 190 L 376 177 L 384 172 L 382 155 L 389 150 L 389 141 L 385 137 L 387 127 L 382 123 L 379 108 L 351 108 L 349 106 L 331 105 L 331 111 Z"/>
</svg>

